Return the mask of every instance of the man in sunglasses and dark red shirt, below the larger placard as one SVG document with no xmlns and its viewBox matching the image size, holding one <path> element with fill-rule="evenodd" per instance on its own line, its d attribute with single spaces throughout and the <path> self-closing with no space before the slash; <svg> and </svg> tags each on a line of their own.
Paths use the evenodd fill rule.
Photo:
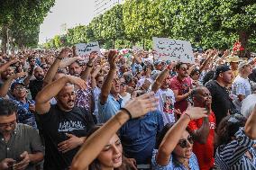
<svg viewBox="0 0 256 170">
<path fill-rule="evenodd" d="M 192 92 L 192 82 L 188 77 L 187 69 L 186 63 L 179 62 L 176 65 L 178 76 L 173 77 L 169 83 L 169 87 L 175 95 L 174 107 L 180 112 L 186 111 L 189 102 L 188 97 Z"/>
</svg>

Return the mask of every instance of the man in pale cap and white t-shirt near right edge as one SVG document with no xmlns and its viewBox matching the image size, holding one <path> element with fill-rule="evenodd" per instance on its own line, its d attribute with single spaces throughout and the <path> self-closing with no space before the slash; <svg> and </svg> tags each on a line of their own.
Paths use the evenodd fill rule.
<svg viewBox="0 0 256 170">
<path fill-rule="evenodd" d="M 248 76 L 251 74 L 251 65 L 247 61 L 242 61 L 238 65 L 239 75 L 233 80 L 232 94 L 237 98 L 234 100 L 236 108 L 241 109 L 242 100 L 251 94 L 251 85 Z"/>
</svg>

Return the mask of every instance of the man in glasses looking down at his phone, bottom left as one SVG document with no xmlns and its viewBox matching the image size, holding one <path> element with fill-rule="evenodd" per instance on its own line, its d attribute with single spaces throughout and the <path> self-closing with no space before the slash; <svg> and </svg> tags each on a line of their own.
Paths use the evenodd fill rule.
<svg viewBox="0 0 256 170">
<path fill-rule="evenodd" d="M 43 159 L 39 134 L 32 127 L 17 123 L 17 106 L 0 100 L 0 169 L 35 170 Z"/>
</svg>

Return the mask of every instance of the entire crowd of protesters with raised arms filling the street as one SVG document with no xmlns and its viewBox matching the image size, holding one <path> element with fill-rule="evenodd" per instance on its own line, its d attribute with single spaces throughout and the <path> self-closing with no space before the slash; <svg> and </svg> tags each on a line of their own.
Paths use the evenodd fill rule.
<svg viewBox="0 0 256 170">
<path fill-rule="evenodd" d="M 0 53 L 0 170 L 256 169 L 256 59 Z"/>
</svg>

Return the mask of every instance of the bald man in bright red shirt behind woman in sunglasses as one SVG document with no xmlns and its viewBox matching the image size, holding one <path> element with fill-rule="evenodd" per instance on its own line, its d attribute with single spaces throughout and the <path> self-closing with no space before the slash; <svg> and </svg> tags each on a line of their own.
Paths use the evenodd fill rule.
<svg viewBox="0 0 256 170">
<path fill-rule="evenodd" d="M 192 100 L 195 107 L 206 108 L 207 117 L 193 120 L 188 123 L 188 130 L 195 139 L 193 152 L 197 156 L 201 170 L 213 168 L 215 142 L 215 113 L 212 112 L 212 96 L 204 86 L 197 86 L 192 91 Z"/>
</svg>

